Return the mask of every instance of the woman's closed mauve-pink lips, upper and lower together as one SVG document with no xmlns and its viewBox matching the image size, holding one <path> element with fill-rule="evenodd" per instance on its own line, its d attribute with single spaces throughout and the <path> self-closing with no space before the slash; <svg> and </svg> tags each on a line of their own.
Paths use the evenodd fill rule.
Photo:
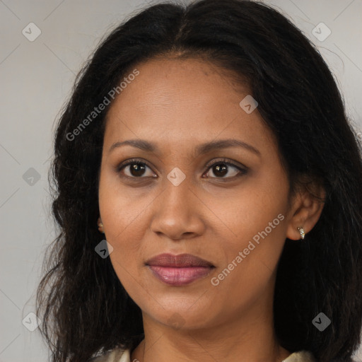
<svg viewBox="0 0 362 362">
<path fill-rule="evenodd" d="M 191 254 L 161 254 L 146 262 L 153 276 L 171 286 L 183 286 L 207 276 L 214 265 Z"/>
</svg>

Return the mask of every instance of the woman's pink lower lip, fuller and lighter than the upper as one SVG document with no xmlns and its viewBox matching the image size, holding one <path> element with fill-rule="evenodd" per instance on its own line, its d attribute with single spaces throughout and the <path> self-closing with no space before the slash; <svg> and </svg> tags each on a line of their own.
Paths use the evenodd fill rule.
<svg viewBox="0 0 362 362">
<path fill-rule="evenodd" d="M 148 266 L 153 275 L 171 286 L 183 286 L 210 273 L 213 267 L 159 267 Z"/>
</svg>

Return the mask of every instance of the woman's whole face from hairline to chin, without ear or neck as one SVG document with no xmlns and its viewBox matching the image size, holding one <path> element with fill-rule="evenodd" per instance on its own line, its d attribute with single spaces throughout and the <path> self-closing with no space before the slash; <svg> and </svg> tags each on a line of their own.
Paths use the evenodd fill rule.
<svg viewBox="0 0 362 362">
<path fill-rule="evenodd" d="M 270 310 L 290 220 L 274 135 L 250 99 L 240 105 L 248 89 L 206 62 L 154 59 L 136 69 L 107 114 L 100 171 L 119 281 L 164 325 L 212 327 Z M 115 145 L 129 140 L 143 143 Z M 213 267 L 148 265 L 163 253 Z"/>
</svg>

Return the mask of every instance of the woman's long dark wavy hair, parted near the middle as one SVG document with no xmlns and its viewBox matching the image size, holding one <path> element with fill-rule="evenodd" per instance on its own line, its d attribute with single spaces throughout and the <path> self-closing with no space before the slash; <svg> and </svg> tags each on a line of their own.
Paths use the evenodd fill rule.
<svg viewBox="0 0 362 362">
<path fill-rule="evenodd" d="M 274 326 L 288 351 L 305 349 L 321 362 L 349 361 L 362 323 L 361 148 L 317 49 L 278 11 L 243 0 L 150 6 L 105 37 L 78 74 L 54 138 L 49 181 L 59 230 L 37 289 L 52 361 L 88 361 L 116 347 L 133 349 L 144 338 L 140 308 L 110 258 L 95 252 L 103 239 L 98 177 L 109 105 L 91 121 L 89 115 L 137 64 L 153 57 L 198 57 L 247 81 L 277 137 L 291 188 L 302 176 L 325 188 L 324 209 L 306 241 L 286 240 Z M 332 321 L 323 332 L 312 323 L 319 313 Z"/>
</svg>

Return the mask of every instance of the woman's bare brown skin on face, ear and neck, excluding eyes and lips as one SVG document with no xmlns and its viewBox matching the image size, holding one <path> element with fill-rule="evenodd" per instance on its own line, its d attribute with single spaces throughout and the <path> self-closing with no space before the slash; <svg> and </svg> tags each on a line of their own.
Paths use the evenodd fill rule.
<svg viewBox="0 0 362 362">
<path fill-rule="evenodd" d="M 235 86 L 226 71 L 197 59 L 153 59 L 136 68 L 139 75 L 107 114 L 99 183 L 99 221 L 114 248 L 112 266 L 144 321 L 145 339 L 131 361 L 280 362 L 290 352 L 273 328 L 277 263 L 286 238 L 300 240 L 298 226 L 308 234 L 322 205 L 303 190 L 288 199 L 274 134 L 257 109 L 247 114 L 239 105 L 250 94 L 247 86 Z M 120 146 L 109 152 L 128 139 L 153 141 L 158 151 Z M 220 139 L 238 139 L 259 154 L 243 147 L 194 153 L 195 146 Z M 131 158 L 151 168 L 117 173 Z M 216 158 L 247 173 L 235 176 L 233 165 L 226 175 L 206 168 Z M 167 178 L 175 167 L 186 177 L 178 186 Z M 284 220 L 213 286 L 211 278 L 279 214 Z M 187 286 L 169 286 L 145 265 L 163 252 L 190 253 L 215 269 Z"/>
</svg>

